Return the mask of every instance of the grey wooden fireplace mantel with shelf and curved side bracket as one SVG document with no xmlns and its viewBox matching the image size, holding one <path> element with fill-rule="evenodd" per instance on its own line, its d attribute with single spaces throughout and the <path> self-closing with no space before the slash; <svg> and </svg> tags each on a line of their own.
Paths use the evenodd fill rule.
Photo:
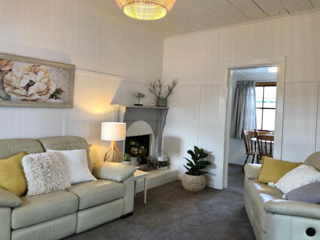
<svg viewBox="0 0 320 240">
<path fill-rule="evenodd" d="M 127 129 L 131 124 L 138 120 L 144 120 L 148 124 L 150 124 L 155 133 L 155 154 L 161 151 L 162 133 L 169 107 L 150 107 L 120 104 L 110 104 L 110 106 L 114 107 L 114 122 L 126 123 Z"/>
</svg>

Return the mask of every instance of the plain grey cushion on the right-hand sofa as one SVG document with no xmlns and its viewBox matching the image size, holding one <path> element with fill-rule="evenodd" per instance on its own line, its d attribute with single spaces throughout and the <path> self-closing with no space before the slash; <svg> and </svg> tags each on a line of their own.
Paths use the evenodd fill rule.
<svg viewBox="0 0 320 240">
<path fill-rule="evenodd" d="M 320 182 L 312 182 L 295 188 L 285 195 L 285 199 L 320 204 Z"/>
</svg>

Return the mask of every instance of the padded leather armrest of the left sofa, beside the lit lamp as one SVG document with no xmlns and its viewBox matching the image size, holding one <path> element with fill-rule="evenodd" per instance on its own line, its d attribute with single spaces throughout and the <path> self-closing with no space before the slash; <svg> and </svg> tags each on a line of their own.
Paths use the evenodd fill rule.
<svg viewBox="0 0 320 240">
<path fill-rule="evenodd" d="M 97 179 L 122 182 L 129 178 L 137 168 L 131 165 L 111 162 L 98 162 L 93 166 L 93 176 Z"/>
</svg>

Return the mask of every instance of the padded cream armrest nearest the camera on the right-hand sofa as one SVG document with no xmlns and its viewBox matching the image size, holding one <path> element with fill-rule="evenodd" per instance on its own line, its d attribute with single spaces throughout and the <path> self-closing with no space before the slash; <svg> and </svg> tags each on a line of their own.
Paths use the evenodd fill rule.
<svg viewBox="0 0 320 240">
<path fill-rule="evenodd" d="M 266 202 L 263 208 L 272 213 L 320 219 L 319 204 L 274 199 Z"/>
</svg>

